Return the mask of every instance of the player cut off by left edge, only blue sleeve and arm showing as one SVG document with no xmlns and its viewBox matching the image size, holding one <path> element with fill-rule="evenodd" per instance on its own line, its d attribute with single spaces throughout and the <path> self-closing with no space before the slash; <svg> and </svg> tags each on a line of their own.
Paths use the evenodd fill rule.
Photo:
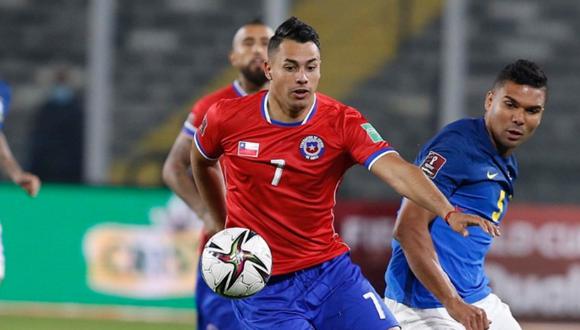
<svg viewBox="0 0 580 330">
<path fill-rule="evenodd" d="M 10 109 L 11 101 L 10 87 L 0 80 L 0 169 L 8 175 L 10 180 L 19 185 L 32 197 L 38 194 L 40 189 L 40 180 L 34 174 L 22 170 L 10 150 L 3 133 L 4 119 Z M 0 225 L 0 282 L 4 279 L 4 253 L 2 246 L 2 226 Z"/>
</svg>

